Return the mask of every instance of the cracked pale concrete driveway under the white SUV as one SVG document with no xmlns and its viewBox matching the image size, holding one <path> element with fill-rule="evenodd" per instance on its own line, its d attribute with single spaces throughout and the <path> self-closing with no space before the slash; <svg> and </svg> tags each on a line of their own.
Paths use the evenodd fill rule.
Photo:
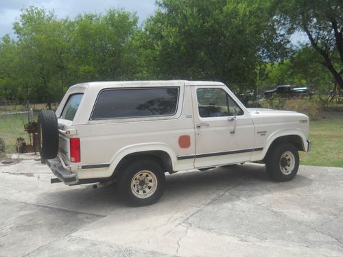
<svg viewBox="0 0 343 257">
<path fill-rule="evenodd" d="M 143 208 L 51 177 L 34 160 L 0 164 L 0 256 L 343 256 L 342 168 L 286 183 L 260 164 L 180 172 Z"/>
</svg>

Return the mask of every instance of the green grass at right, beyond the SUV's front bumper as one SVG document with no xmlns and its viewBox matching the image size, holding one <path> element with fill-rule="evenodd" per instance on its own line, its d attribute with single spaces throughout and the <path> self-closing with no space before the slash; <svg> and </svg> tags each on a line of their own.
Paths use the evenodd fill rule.
<svg viewBox="0 0 343 257">
<path fill-rule="evenodd" d="M 311 121 L 312 149 L 300 152 L 300 164 L 343 167 L 343 120 Z"/>
</svg>

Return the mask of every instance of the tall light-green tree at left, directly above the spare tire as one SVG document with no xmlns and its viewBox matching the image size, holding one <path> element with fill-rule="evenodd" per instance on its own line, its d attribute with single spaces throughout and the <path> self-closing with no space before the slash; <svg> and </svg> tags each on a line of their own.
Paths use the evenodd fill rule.
<svg viewBox="0 0 343 257">
<path fill-rule="evenodd" d="M 14 31 L 18 38 L 18 82 L 26 95 L 40 101 L 57 101 L 64 94 L 69 48 L 67 29 L 69 21 L 58 21 L 54 12 L 30 7 L 23 10 Z"/>
</svg>

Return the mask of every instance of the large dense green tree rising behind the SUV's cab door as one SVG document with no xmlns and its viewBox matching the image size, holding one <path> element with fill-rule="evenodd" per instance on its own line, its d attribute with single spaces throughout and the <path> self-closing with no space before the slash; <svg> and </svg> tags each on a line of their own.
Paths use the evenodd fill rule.
<svg viewBox="0 0 343 257">
<path fill-rule="evenodd" d="M 150 74 L 219 80 L 252 88 L 258 66 L 283 58 L 285 41 L 270 1 L 163 0 L 145 23 Z"/>
</svg>

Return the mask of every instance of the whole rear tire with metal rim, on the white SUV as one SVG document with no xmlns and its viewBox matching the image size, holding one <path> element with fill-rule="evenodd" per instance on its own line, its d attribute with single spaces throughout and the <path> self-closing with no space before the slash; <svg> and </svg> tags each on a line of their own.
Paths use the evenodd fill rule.
<svg viewBox="0 0 343 257">
<path fill-rule="evenodd" d="M 165 173 L 155 160 L 128 164 L 117 182 L 119 195 L 132 206 L 154 204 L 165 190 Z"/>
</svg>

